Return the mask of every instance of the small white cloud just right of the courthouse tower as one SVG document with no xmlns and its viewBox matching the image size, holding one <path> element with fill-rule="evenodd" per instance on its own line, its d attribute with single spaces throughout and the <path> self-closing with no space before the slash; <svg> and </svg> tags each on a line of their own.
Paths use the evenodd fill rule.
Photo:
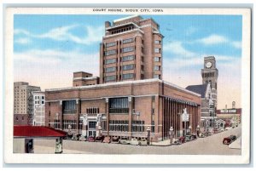
<svg viewBox="0 0 256 171">
<path fill-rule="evenodd" d="M 182 58 L 188 58 L 188 57 L 194 57 L 195 53 L 189 51 L 186 48 L 183 48 L 183 45 L 181 42 L 172 42 L 167 43 L 164 46 L 164 51 L 171 52 L 172 54 L 176 54 Z"/>
</svg>

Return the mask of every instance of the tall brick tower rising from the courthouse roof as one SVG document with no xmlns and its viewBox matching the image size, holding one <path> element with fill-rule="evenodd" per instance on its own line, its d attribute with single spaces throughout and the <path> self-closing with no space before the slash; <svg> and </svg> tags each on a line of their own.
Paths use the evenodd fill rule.
<svg viewBox="0 0 256 171">
<path fill-rule="evenodd" d="M 100 83 L 162 79 L 160 26 L 141 16 L 105 22 L 100 45 Z"/>
</svg>

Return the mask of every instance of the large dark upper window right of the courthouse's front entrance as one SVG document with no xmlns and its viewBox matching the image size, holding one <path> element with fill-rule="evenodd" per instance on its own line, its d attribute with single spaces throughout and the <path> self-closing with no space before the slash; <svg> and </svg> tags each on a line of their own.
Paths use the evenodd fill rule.
<svg viewBox="0 0 256 171">
<path fill-rule="evenodd" d="M 128 98 L 112 98 L 109 103 L 109 113 L 128 113 Z"/>
</svg>

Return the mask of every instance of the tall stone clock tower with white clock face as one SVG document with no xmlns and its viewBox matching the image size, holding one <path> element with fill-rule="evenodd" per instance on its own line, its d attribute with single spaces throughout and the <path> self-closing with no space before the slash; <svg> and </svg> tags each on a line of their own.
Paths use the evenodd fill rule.
<svg viewBox="0 0 256 171">
<path fill-rule="evenodd" d="M 217 81 L 218 69 L 216 68 L 216 60 L 214 56 L 204 58 L 204 69 L 201 69 L 202 83 L 209 83 L 212 89 L 212 101 L 217 107 Z"/>
</svg>

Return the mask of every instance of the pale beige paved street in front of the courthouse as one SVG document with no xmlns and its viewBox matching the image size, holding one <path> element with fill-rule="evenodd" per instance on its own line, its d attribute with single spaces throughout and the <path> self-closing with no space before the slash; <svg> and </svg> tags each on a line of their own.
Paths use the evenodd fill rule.
<svg viewBox="0 0 256 171">
<path fill-rule="evenodd" d="M 183 145 L 172 146 L 140 146 L 105 144 L 100 142 L 84 142 L 63 140 L 64 153 L 87 153 L 87 154 L 183 154 L 183 155 L 241 155 L 241 149 L 230 149 L 229 145 L 223 145 L 222 140 L 230 134 L 241 136 L 241 127 L 232 128 L 207 138 L 201 138 L 187 142 Z M 35 153 L 44 153 L 40 146 L 51 147 L 54 153 L 54 140 L 35 140 Z M 48 148 L 49 151 L 50 148 Z M 43 150 L 43 151 L 42 151 Z M 49 153 L 49 152 L 45 152 Z"/>
</svg>

